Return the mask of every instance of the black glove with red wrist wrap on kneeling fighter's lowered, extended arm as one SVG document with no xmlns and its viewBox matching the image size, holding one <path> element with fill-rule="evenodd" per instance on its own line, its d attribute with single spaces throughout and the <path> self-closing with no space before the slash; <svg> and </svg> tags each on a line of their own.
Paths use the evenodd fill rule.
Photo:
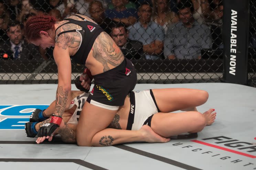
<svg viewBox="0 0 256 170">
<path fill-rule="evenodd" d="M 38 137 L 51 136 L 51 134 L 61 125 L 62 118 L 53 115 L 50 123 L 44 123 L 38 131 Z"/>
</svg>

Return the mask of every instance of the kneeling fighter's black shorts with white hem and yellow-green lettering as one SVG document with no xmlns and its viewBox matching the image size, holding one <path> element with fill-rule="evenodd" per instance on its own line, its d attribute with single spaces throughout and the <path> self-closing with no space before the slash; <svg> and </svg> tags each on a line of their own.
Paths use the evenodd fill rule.
<svg viewBox="0 0 256 170">
<path fill-rule="evenodd" d="M 124 59 L 120 65 L 104 73 L 94 75 L 94 87 L 87 101 L 90 104 L 117 110 L 124 105 L 125 98 L 137 83 L 137 73 L 130 60 Z M 117 106 L 111 109 L 107 106 Z"/>
</svg>

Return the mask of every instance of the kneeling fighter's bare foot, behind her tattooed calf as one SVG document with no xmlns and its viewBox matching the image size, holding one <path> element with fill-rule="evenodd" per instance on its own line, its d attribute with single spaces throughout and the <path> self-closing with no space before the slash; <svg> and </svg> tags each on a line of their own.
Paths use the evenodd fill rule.
<svg viewBox="0 0 256 170">
<path fill-rule="evenodd" d="M 148 125 L 143 125 L 139 130 L 145 142 L 149 143 L 166 143 L 170 138 L 165 138 L 155 133 Z"/>
</svg>

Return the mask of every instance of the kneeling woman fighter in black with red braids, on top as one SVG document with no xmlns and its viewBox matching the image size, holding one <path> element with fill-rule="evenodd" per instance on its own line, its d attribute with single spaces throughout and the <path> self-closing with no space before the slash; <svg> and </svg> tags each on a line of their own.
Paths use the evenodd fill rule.
<svg viewBox="0 0 256 170">
<path fill-rule="evenodd" d="M 41 141 L 49 138 L 61 124 L 67 98 L 71 95 L 72 59 L 85 65 L 95 80 L 93 93 L 88 96 L 77 124 L 77 144 L 92 146 L 93 138 L 112 133 L 120 136 L 121 143 L 129 142 L 128 138 L 134 136 L 131 131 L 105 130 L 137 81 L 134 65 L 124 57 L 113 39 L 92 19 L 78 14 L 60 22 L 49 15 L 34 16 L 25 25 L 25 35 L 36 46 L 54 46 L 53 57 L 58 67 L 55 109 L 48 126 L 39 129 Z M 85 82 L 91 81 L 88 76 L 83 78 Z"/>
</svg>

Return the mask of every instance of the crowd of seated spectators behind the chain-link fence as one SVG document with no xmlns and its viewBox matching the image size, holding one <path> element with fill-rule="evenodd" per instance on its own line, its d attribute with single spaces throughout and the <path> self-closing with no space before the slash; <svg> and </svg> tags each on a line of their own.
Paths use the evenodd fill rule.
<svg viewBox="0 0 256 170">
<path fill-rule="evenodd" d="M 26 21 L 49 14 L 91 17 L 129 59 L 200 59 L 202 49 L 222 49 L 221 0 L 0 0 L 1 59 L 52 58 L 23 37 Z"/>
</svg>

